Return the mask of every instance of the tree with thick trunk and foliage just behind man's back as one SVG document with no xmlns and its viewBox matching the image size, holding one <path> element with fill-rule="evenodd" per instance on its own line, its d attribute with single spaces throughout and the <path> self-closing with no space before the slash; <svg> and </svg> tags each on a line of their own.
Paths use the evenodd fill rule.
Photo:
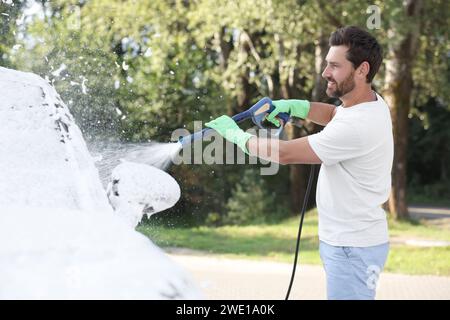
<svg viewBox="0 0 450 320">
<path fill-rule="evenodd" d="M 392 108 L 395 148 L 389 211 L 407 218 L 408 119 L 416 111 L 412 106 L 429 96 L 448 102 L 448 2 L 389 1 L 385 12 L 389 19 L 384 96 Z"/>
</svg>

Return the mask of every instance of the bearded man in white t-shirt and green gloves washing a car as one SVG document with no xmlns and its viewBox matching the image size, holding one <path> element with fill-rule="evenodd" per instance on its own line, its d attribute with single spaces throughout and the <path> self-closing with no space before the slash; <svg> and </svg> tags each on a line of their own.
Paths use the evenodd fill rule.
<svg viewBox="0 0 450 320">
<path fill-rule="evenodd" d="M 328 81 L 327 95 L 342 105 L 278 100 L 268 117 L 279 125 L 275 116 L 288 112 L 325 126 L 321 132 L 275 141 L 242 131 L 228 116 L 206 126 L 251 155 L 272 148 L 265 159 L 322 164 L 316 202 L 328 299 L 374 299 L 389 251 L 381 205 L 389 196 L 393 160 L 389 108 L 371 88 L 382 53 L 376 39 L 357 27 L 333 32 L 329 44 L 322 76 Z"/>
</svg>

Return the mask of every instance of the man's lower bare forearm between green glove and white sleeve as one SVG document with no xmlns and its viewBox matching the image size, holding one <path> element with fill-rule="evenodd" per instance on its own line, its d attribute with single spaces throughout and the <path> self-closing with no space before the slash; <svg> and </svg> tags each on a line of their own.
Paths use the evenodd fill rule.
<svg viewBox="0 0 450 320">
<path fill-rule="evenodd" d="M 250 155 L 280 164 L 322 163 L 311 148 L 308 137 L 289 141 L 251 137 L 247 141 Z"/>
</svg>

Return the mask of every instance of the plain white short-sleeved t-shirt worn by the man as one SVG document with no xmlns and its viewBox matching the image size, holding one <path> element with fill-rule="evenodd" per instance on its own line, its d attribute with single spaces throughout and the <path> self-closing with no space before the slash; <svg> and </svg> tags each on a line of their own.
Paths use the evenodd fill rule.
<svg viewBox="0 0 450 320">
<path fill-rule="evenodd" d="M 394 144 L 386 102 L 377 94 L 377 101 L 339 106 L 308 141 L 322 160 L 316 194 L 319 239 L 351 247 L 388 242 L 381 205 L 391 190 Z"/>
</svg>

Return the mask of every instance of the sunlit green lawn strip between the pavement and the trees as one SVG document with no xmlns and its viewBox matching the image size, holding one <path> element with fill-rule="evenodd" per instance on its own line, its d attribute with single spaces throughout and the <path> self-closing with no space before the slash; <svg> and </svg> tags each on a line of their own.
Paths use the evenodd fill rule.
<svg viewBox="0 0 450 320">
<path fill-rule="evenodd" d="M 138 231 L 162 248 L 181 247 L 201 250 L 228 258 L 247 258 L 292 262 L 299 218 L 278 224 L 166 228 L 142 225 Z M 417 221 L 389 221 L 391 237 L 450 241 L 448 229 Z M 317 212 L 305 216 L 300 244 L 300 263 L 320 264 Z M 450 247 L 411 247 L 391 244 L 388 272 L 450 276 Z"/>
</svg>

